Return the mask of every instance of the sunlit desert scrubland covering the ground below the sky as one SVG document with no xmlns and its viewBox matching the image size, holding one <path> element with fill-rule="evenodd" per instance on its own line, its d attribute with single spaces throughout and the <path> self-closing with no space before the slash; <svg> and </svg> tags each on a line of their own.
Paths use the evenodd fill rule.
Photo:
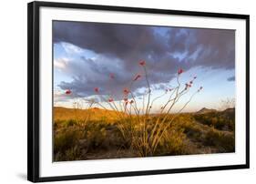
<svg viewBox="0 0 256 184">
<path fill-rule="evenodd" d="M 145 151 L 141 142 L 151 144 L 157 137 L 152 131 L 160 115 L 150 115 L 147 129 L 137 117 L 118 118 L 103 109 L 55 107 L 55 161 L 98 158 L 134 158 L 234 152 L 234 109 L 208 113 L 184 113 L 169 125 L 154 152 Z M 93 116 L 92 116 L 93 114 Z M 166 123 L 175 115 L 168 115 Z M 90 117 L 90 118 L 88 118 Z M 161 119 L 161 118 L 159 118 Z M 145 132 L 147 132 L 145 134 Z M 154 135 L 150 135 L 154 132 Z M 160 132 L 161 133 L 161 132 Z M 160 135 L 159 133 L 159 135 Z M 138 141 L 147 135 L 147 141 Z M 144 151 L 144 152 L 143 152 Z"/>
</svg>

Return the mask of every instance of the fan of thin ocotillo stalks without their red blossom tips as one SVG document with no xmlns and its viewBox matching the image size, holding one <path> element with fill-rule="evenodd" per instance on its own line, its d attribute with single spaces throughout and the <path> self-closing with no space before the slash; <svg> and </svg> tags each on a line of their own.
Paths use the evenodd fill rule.
<svg viewBox="0 0 256 184">
<path fill-rule="evenodd" d="M 143 95 L 142 109 L 138 108 L 136 97 L 134 96 L 131 90 L 132 85 L 135 82 L 135 79 L 131 80 L 128 88 L 128 94 L 125 94 L 125 98 L 128 98 L 128 95 L 129 95 L 132 100 L 130 101 L 124 100 L 124 102 L 122 100 L 119 100 L 119 103 L 118 103 L 119 107 L 117 107 L 116 102 L 114 100 L 109 101 L 105 99 L 105 97 L 102 97 L 102 98 L 104 99 L 105 102 L 107 102 L 108 106 L 118 114 L 118 118 L 120 119 L 120 123 L 118 123 L 118 129 L 122 133 L 123 138 L 127 140 L 128 138 L 130 138 L 130 148 L 135 148 L 138 151 L 138 155 L 140 157 L 147 157 L 148 153 L 151 156 L 154 155 L 156 149 L 159 146 L 159 142 L 162 139 L 163 135 L 166 133 L 167 129 L 169 128 L 169 125 L 173 122 L 173 120 L 177 116 L 179 116 L 179 113 L 185 107 L 187 107 L 192 97 L 194 97 L 200 90 L 198 90 L 189 98 L 189 101 L 187 101 L 187 103 L 185 103 L 185 105 L 181 107 L 174 116 L 172 116 L 169 122 L 166 122 L 167 119 L 169 118 L 169 113 L 171 109 L 178 103 L 180 97 L 183 97 L 189 92 L 189 87 L 187 86 L 187 84 L 184 89 L 180 90 L 181 85 L 179 82 L 179 76 L 183 72 L 181 70 L 181 72 L 178 73 L 178 76 L 177 76 L 178 86 L 173 87 L 171 89 L 172 92 L 170 93 L 167 102 L 160 108 L 158 117 L 156 121 L 153 122 L 155 118 L 154 117 L 151 118 L 149 116 L 150 110 L 153 108 L 155 102 L 159 98 L 168 95 L 169 91 L 167 90 L 166 93 L 160 95 L 159 97 L 155 97 L 151 100 L 152 91 L 148 81 L 147 67 L 145 66 L 145 64 L 141 66 L 143 66 L 145 80 L 147 82 L 147 87 L 148 87 L 148 92 Z M 147 100 L 145 100 L 147 96 L 148 98 Z M 97 104 L 98 106 L 108 110 L 108 108 L 104 107 L 101 103 L 97 102 Z M 92 106 L 89 106 L 89 107 L 92 107 Z M 132 112 L 134 112 L 135 115 L 133 115 Z M 124 122 L 126 124 L 124 124 Z M 134 127 L 135 122 L 138 123 L 138 131 L 136 131 L 136 127 Z M 152 123 L 154 123 L 153 127 L 148 129 L 148 124 L 151 125 Z"/>
</svg>

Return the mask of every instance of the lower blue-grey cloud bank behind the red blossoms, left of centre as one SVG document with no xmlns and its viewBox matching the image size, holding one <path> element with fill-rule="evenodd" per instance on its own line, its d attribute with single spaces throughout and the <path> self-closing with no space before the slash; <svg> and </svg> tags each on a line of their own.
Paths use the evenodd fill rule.
<svg viewBox="0 0 256 184">
<path fill-rule="evenodd" d="M 108 57 L 97 57 L 95 59 L 81 57 L 80 62 L 68 62 L 67 72 L 73 75 L 73 81 L 61 82 L 58 86 L 62 89 L 72 89 L 73 97 L 89 97 L 95 95 L 95 87 L 99 88 L 100 95 L 113 95 L 116 99 L 122 98 L 122 91 L 128 87 L 133 90 L 135 96 L 145 94 L 147 83 L 145 74 L 141 66 L 136 64 L 138 71 L 125 70 L 125 66 L 119 65 L 119 60 L 111 60 Z M 108 66 L 113 62 L 111 66 Z M 159 71 L 161 68 L 159 68 Z M 170 70 L 171 71 L 171 70 Z M 153 90 L 168 88 L 169 80 L 173 77 L 173 72 L 162 75 L 159 72 L 148 70 L 148 80 L 153 84 Z M 76 75 L 74 75 L 76 74 Z M 111 78 L 113 75 L 114 78 Z M 131 86 L 131 81 L 140 75 L 139 79 Z M 154 85 L 157 84 L 157 85 Z M 144 87 L 142 91 L 136 89 Z"/>
</svg>

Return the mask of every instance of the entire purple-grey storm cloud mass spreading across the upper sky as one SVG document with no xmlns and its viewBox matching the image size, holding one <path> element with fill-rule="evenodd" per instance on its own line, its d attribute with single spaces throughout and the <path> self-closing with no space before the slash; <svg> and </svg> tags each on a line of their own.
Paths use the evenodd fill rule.
<svg viewBox="0 0 256 184">
<path fill-rule="evenodd" d="M 59 87 L 72 88 L 84 96 L 102 92 L 120 91 L 136 74 L 142 74 L 138 60 L 147 61 L 151 84 L 167 83 L 179 67 L 188 70 L 193 66 L 234 68 L 234 31 L 217 29 L 191 29 L 118 24 L 54 22 L 54 43 L 67 42 L 91 50 L 96 60 L 81 57 L 84 62 L 69 63 L 74 80 L 62 82 Z M 115 83 L 109 81 L 115 73 Z M 146 87 L 144 80 L 134 86 Z M 164 87 L 162 87 L 164 88 Z M 138 92 L 139 93 L 139 92 Z"/>
</svg>

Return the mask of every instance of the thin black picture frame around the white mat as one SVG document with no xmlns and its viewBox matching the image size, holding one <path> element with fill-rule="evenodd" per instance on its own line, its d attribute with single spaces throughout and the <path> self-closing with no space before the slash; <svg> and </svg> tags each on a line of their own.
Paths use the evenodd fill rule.
<svg viewBox="0 0 256 184">
<path fill-rule="evenodd" d="M 246 164 L 228 165 L 218 167 L 201 167 L 186 169 L 159 169 L 159 170 L 141 170 L 118 173 L 86 174 L 61 177 L 39 176 L 39 8 L 74 8 L 74 9 L 92 9 L 109 10 L 118 12 L 165 14 L 165 15 L 196 15 L 205 17 L 234 18 L 244 19 L 246 21 Z M 128 177 L 140 175 L 156 175 L 180 172 L 196 172 L 208 170 L 224 169 L 249 169 L 250 168 L 250 15 L 219 14 L 194 11 L 178 11 L 167 9 L 137 8 L 109 5 L 80 5 L 68 3 L 52 2 L 32 2 L 27 5 L 27 179 L 33 182 L 57 181 L 69 179 L 97 179 L 110 177 Z"/>
</svg>

